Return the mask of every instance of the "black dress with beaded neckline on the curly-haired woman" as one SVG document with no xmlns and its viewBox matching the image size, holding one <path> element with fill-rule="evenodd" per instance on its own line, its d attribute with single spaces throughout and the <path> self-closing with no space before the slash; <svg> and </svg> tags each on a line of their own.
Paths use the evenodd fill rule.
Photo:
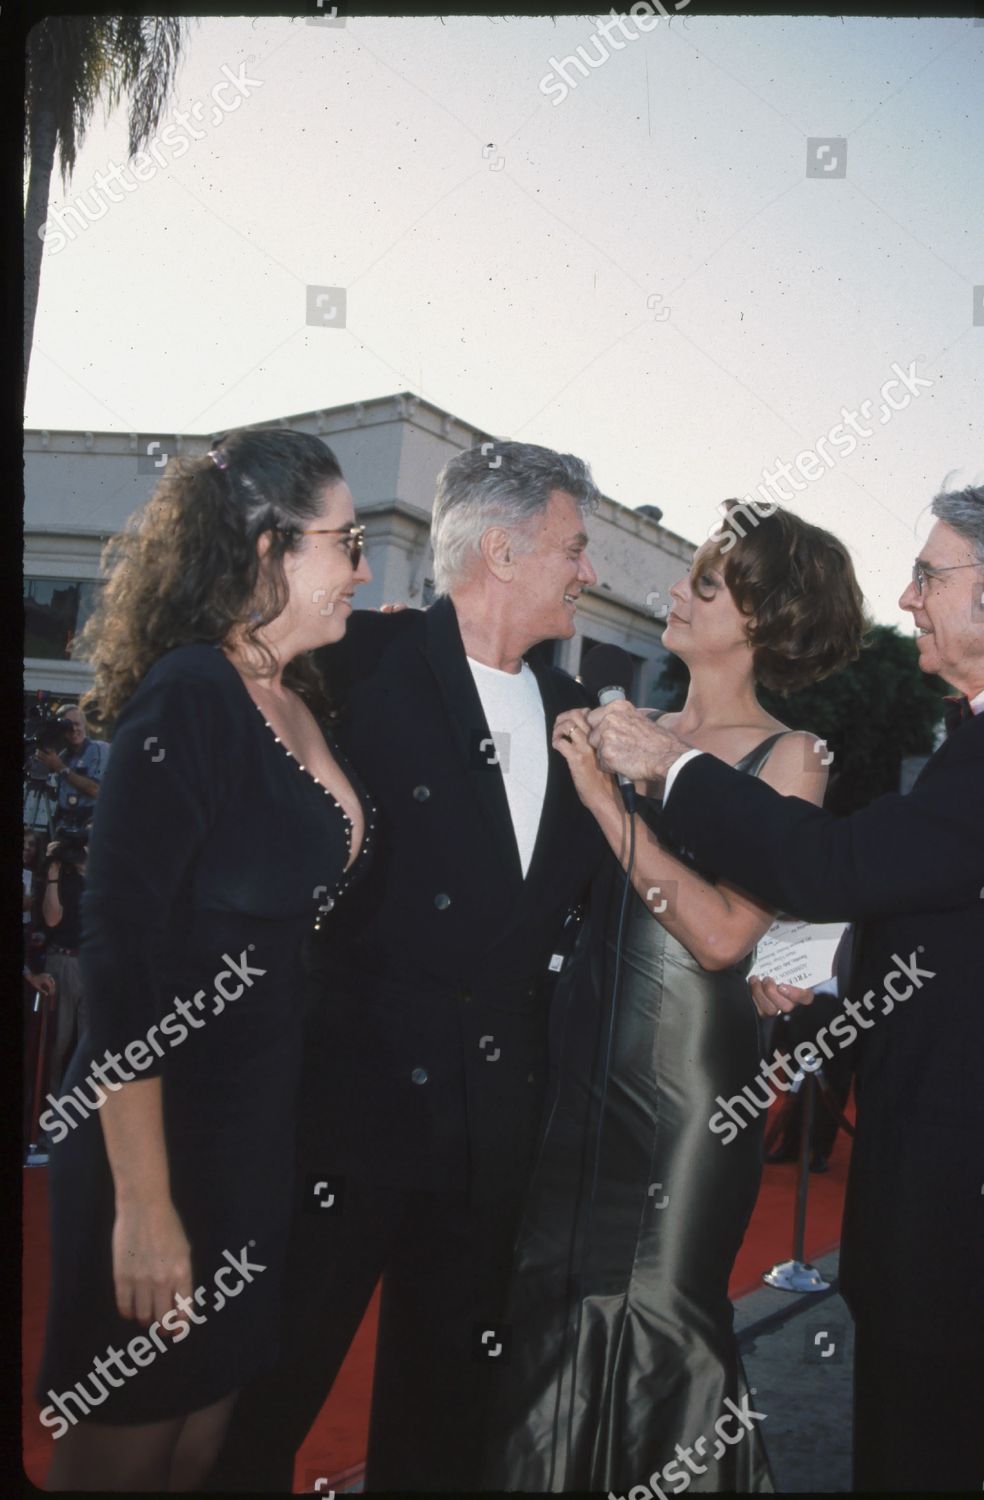
<svg viewBox="0 0 984 1500">
<path fill-rule="evenodd" d="M 170 651 L 118 718 L 82 897 L 88 1028 L 60 1104 L 42 1116 L 52 1274 L 38 1398 L 56 1436 L 69 1413 L 135 1424 L 198 1410 L 276 1359 L 298 950 L 316 921 L 344 920 L 344 906 L 332 908 L 372 844 L 374 810 L 333 753 L 364 812 L 348 873 L 346 814 L 279 741 L 219 646 Z M 123 1054 L 118 1066 L 106 1052 Z M 195 1287 L 172 1338 L 158 1330 L 135 1347 L 148 1329 L 116 1311 L 99 1119 L 128 1074 L 162 1077 L 171 1197 Z M 108 1356 L 112 1378 L 93 1365 L 110 1346 L 132 1347 L 123 1366 Z"/>
</svg>

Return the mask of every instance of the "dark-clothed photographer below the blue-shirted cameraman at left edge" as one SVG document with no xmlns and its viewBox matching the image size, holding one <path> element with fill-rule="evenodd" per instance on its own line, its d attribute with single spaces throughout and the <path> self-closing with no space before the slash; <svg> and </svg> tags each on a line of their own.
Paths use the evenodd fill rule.
<svg viewBox="0 0 984 1500">
<path fill-rule="evenodd" d="M 48 1088 L 57 1092 L 74 1044 L 82 1029 L 78 974 L 80 906 L 86 885 L 86 834 L 63 831 L 45 850 L 40 880 L 40 927 L 45 972 L 56 984 L 56 1034 Z"/>
</svg>

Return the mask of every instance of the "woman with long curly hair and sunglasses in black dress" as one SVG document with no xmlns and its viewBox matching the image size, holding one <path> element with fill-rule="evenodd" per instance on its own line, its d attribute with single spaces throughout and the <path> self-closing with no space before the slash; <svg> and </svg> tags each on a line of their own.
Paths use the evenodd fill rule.
<svg viewBox="0 0 984 1500">
<path fill-rule="evenodd" d="M 240 430 L 171 462 L 81 648 L 112 756 L 82 897 L 87 1029 L 42 1114 L 51 1490 L 194 1490 L 276 1359 L 303 933 L 372 807 L 308 657 L 368 582 L 334 454 Z M 330 918 L 328 918 L 330 920 Z"/>
</svg>

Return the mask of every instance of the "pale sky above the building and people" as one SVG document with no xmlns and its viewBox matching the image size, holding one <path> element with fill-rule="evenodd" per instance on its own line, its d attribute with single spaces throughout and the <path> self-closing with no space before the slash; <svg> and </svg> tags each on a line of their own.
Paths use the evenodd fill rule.
<svg viewBox="0 0 984 1500">
<path fill-rule="evenodd" d="M 411 390 L 693 540 L 788 464 L 903 624 L 927 502 L 984 477 L 984 26 L 597 24 L 195 22 L 192 116 L 144 180 L 96 184 L 126 162 L 99 112 L 56 182 L 94 222 L 50 231 L 27 424 L 219 432 Z M 544 93 L 579 46 L 598 66 Z M 882 399 L 894 366 L 914 388 Z"/>
</svg>

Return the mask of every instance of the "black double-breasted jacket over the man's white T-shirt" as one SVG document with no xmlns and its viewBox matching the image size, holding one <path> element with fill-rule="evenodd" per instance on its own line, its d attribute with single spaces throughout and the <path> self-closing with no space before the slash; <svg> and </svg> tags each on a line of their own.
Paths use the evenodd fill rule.
<svg viewBox="0 0 984 1500">
<path fill-rule="evenodd" d="M 316 1120 L 326 1172 L 376 1184 L 520 1184 L 546 1083 L 552 954 L 603 838 L 549 750 L 540 830 L 522 876 L 506 786 L 454 606 L 356 612 L 320 664 L 344 705 L 336 738 L 374 800 L 368 874 L 312 939 Z M 546 736 L 586 704 L 531 663 Z M 309 1090 L 310 1092 L 310 1090 Z"/>
</svg>

